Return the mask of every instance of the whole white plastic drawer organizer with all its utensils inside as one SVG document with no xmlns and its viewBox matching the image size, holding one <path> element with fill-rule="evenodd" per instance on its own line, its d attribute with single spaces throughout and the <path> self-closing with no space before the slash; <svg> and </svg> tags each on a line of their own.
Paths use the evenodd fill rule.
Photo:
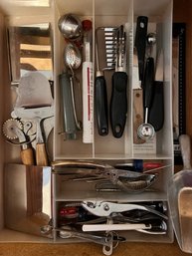
<svg viewBox="0 0 192 256">
<path fill-rule="evenodd" d="M 0 7 L 0 240 L 172 242 L 172 1 Z"/>
</svg>

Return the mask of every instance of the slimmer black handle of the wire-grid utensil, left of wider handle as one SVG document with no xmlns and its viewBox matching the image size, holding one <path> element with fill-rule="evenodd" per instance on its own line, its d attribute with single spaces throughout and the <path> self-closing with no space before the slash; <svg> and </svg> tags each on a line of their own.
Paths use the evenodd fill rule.
<svg viewBox="0 0 192 256">
<path fill-rule="evenodd" d="M 99 135 L 108 133 L 107 92 L 103 76 L 96 77 L 95 83 L 96 123 Z"/>
</svg>

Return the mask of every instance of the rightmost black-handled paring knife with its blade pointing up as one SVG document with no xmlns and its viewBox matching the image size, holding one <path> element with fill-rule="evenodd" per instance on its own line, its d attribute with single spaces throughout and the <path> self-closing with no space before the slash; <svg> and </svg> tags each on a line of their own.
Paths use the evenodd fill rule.
<svg viewBox="0 0 192 256">
<path fill-rule="evenodd" d="M 157 57 L 155 81 L 153 83 L 153 100 L 148 117 L 148 122 L 155 131 L 160 130 L 164 124 L 163 67 L 163 51 L 161 50 Z"/>
</svg>

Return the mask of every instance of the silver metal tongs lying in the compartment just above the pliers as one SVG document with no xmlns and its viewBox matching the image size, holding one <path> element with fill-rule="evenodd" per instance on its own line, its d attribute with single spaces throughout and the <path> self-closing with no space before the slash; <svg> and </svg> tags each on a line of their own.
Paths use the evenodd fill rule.
<svg viewBox="0 0 192 256">
<path fill-rule="evenodd" d="M 88 161 L 55 161 L 55 172 L 64 175 L 66 180 L 109 181 L 126 192 L 142 192 L 156 180 L 156 174 L 143 174 L 135 171 L 116 169 L 109 164 Z"/>
</svg>

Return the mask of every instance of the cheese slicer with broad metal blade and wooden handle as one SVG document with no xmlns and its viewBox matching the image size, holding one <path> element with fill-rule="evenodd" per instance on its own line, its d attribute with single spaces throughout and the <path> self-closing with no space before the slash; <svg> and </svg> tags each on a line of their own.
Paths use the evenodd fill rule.
<svg viewBox="0 0 192 256">
<path fill-rule="evenodd" d="M 54 116 L 53 98 L 47 78 L 39 72 L 29 72 L 19 83 L 18 98 L 12 117 L 36 122 L 36 163 L 48 165 L 42 121 Z"/>
</svg>

